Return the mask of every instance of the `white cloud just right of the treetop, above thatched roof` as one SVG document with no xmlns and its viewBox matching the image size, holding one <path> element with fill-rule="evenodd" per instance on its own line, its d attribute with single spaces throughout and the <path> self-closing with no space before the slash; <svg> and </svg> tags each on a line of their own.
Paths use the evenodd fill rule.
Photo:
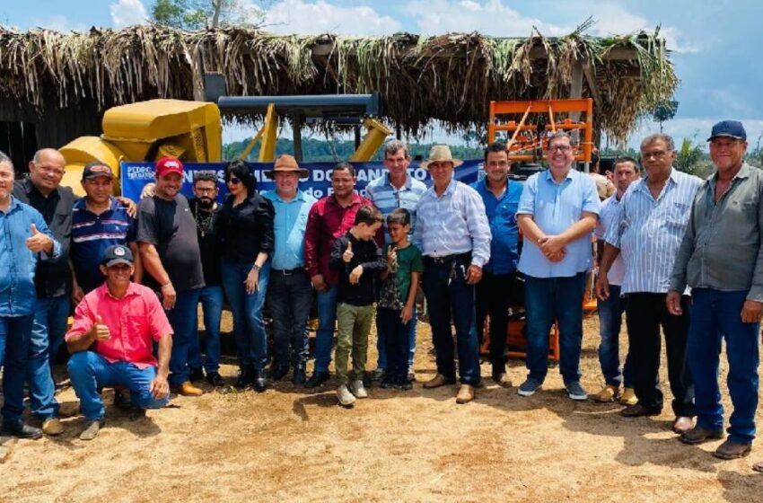
<svg viewBox="0 0 763 503">
<path fill-rule="evenodd" d="M 389 35 L 400 31 L 400 23 L 366 6 L 342 7 L 324 0 L 284 0 L 268 9 L 264 28 L 274 33 Z"/>
</svg>

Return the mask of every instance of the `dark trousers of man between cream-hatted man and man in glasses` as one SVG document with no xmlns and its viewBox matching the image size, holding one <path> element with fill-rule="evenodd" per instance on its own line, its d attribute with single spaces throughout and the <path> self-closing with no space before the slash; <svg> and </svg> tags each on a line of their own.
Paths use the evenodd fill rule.
<svg viewBox="0 0 763 503">
<path fill-rule="evenodd" d="M 477 331 L 482 339 L 485 317 L 490 316 L 490 364 L 493 375 L 506 371 L 506 332 L 509 328 L 509 304 L 512 301 L 514 273 L 485 272 L 477 284 Z"/>
</svg>

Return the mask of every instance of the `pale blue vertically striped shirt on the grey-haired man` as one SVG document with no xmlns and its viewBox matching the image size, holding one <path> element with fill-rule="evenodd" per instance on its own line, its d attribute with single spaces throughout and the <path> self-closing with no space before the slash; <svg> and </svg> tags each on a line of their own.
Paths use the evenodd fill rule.
<svg viewBox="0 0 763 503">
<path fill-rule="evenodd" d="M 618 216 L 604 240 L 620 249 L 626 272 L 621 294 L 664 294 L 679 250 L 694 195 L 702 181 L 671 169 L 671 176 L 655 200 L 646 179 L 630 184 L 620 199 Z"/>
</svg>

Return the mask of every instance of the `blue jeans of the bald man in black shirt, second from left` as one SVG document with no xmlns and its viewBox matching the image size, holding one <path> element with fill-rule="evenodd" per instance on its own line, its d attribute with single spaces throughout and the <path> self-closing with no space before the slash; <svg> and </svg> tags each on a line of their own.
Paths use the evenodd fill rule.
<svg viewBox="0 0 763 503">
<path fill-rule="evenodd" d="M 68 294 L 37 299 L 31 329 L 29 366 L 30 411 L 39 419 L 57 417 L 53 362 L 64 342 L 71 304 Z"/>
</svg>

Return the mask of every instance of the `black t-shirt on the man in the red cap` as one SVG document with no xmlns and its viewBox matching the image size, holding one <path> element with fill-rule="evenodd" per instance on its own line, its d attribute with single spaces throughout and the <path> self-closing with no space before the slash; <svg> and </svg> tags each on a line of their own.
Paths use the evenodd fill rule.
<svg viewBox="0 0 763 503">
<path fill-rule="evenodd" d="M 171 201 L 153 196 L 141 199 L 137 208 L 137 241 L 156 247 L 175 291 L 204 287 L 196 221 L 188 199 L 180 194 Z M 144 278 L 146 286 L 159 289 L 150 274 Z"/>
</svg>

